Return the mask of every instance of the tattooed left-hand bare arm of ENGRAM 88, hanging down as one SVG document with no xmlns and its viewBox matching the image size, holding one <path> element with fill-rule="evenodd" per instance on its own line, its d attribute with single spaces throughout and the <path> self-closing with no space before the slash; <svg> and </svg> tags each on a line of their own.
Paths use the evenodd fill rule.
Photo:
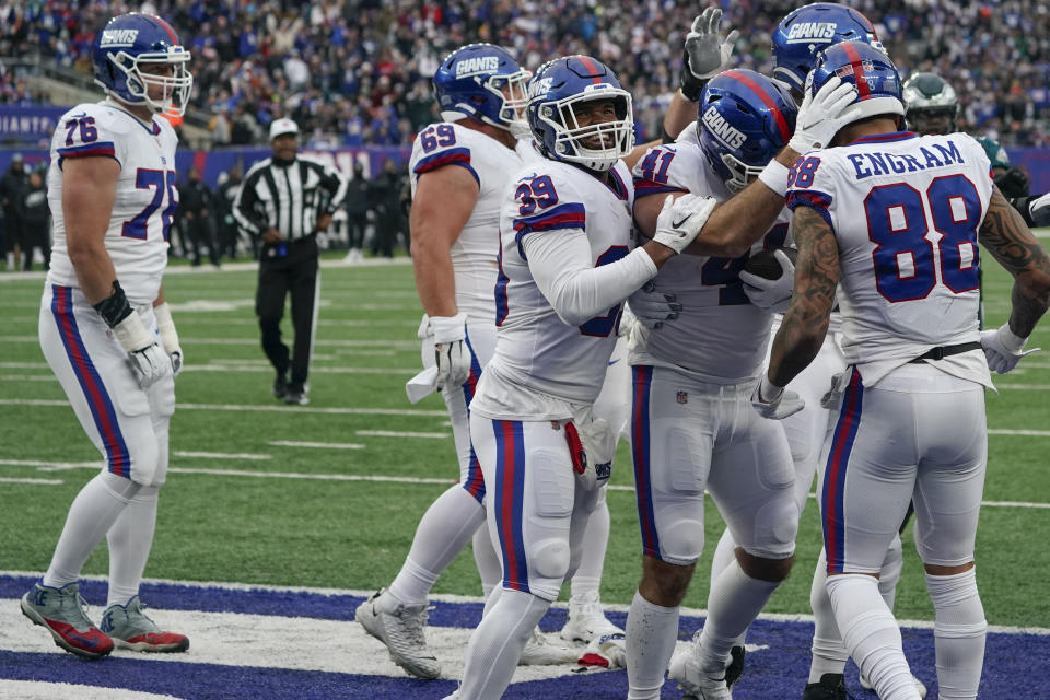
<svg viewBox="0 0 1050 700">
<path fill-rule="evenodd" d="M 792 235 L 798 246 L 795 289 L 769 360 L 768 377 L 775 386 L 788 386 L 817 357 L 839 283 L 839 244 L 824 218 L 810 207 L 797 207 Z"/>
</svg>

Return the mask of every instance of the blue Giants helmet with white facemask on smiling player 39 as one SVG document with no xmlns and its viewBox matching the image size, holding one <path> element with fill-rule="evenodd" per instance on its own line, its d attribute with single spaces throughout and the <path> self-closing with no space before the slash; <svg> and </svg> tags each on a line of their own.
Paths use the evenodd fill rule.
<svg viewBox="0 0 1050 700">
<path fill-rule="evenodd" d="M 575 106 L 611 101 L 616 118 L 580 126 Z M 556 161 L 607 171 L 634 148 L 631 94 L 608 66 L 590 56 L 544 63 L 528 83 L 528 126 L 540 152 Z"/>
</svg>

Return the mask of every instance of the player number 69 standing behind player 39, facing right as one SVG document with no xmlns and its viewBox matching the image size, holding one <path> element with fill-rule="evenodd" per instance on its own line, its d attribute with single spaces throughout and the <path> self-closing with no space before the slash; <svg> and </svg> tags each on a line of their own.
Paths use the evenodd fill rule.
<svg viewBox="0 0 1050 700">
<path fill-rule="evenodd" d="M 354 617 L 420 678 L 441 674 L 423 632 L 427 596 L 441 572 L 472 539 L 486 596 L 500 580 L 499 558 L 481 527 L 486 485 L 470 445 L 468 409 L 495 346 L 493 254 L 503 191 L 522 162 L 515 148 L 528 78 L 499 46 L 470 44 L 450 54 L 433 79 L 443 120 L 419 132 L 409 162 L 412 269 L 425 312 L 419 337 L 427 370 L 420 377 L 429 385 L 422 390 L 436 386 L 448 408 L 459 482 L 423 514 L 389 587 L 361 604 Z M 575 657 L 574 650 L 536 633 L 524 661 Z"/>
</svg>

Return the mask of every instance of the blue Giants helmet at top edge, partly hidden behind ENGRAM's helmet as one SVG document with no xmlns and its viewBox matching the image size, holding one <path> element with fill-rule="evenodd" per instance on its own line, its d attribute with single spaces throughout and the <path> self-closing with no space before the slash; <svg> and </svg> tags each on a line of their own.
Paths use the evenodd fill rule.
<svg viewBox="0 0 1050 700">
<path fill-rule="evenodd" d="M 877 44 L 878 36 L 867 18 L 853 8 L 835 2 L 801 7 L 773 32 L 773 78 L 802 94 L 817 54 L 839 42 L 854 40 Z"/>
</svg>

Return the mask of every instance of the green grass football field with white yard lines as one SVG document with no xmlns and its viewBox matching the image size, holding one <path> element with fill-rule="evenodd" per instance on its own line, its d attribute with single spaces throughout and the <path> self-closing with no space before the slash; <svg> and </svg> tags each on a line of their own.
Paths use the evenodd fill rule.
<svg viewBox="0 0 1050 700">
<path fill-rule="evenodd" d="M 176 273 L 177 272 L 177 273 Z M 369 590 L 387 584 L 425 508 L 457 476 L 451 429 L 436 397 L 410 406 L 421 313 L 408 265 L 331 265 L 323 271 L 311 405 L 270 396 L 259 348 L 252 270 L 165 279 L 188 365 L 176 383 L 172 468 L 147 576 Z M 989 265 L 991 325 L 1008 311 L 1010 282 Z M 0 277 L 0 568 L 47 568 L 66 511 L 98 468 L 40 354 L 39 276 Z M 288 319 L 285 319 L 288 326 Z M 1050 324 L 1032 345 L 1050 350 Z M 1050 353 L 1026 360 L 989 393 L 989 469 L 977 542 L 987 617 L 1050 628 Z M 294 446 L 282 443 L 334 443 Z M 621 444 L 609 493 L 612 535 L 603 599 L 627 604 L 640 573 L 630 459 Z M 708 509 L 708 555 L 686 605 L 704 607 L 710 551 L 722 526 Z M 794 574 L 767 611 L 808 612 L 820 529 L 801 525 Z M 100 547 L 85 573 L 106 572 Z M 469 552 L 435 587 L 477 595 Z M 897 597 L 900 618 L 932 620 L 909 537 Z"/>
</svg>

